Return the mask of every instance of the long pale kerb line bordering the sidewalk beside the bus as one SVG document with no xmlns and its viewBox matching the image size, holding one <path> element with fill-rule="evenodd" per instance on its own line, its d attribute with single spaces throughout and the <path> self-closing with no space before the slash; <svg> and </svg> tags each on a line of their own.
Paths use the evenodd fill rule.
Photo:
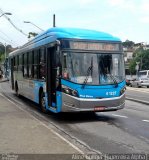
<svg viewBox="0 0 149 160">
<path fill-rule="evenodd" d="M 43 125 L 44 127 L 46 127 L 47 129 L 49 129 L 52 133 L 54 133 L 55 135 L 57 135 L 59 138 L 61 138 L 63 141 L 65 141 L 66 143 L 68 143 L 71 147 L 73 147 L 74 149 L 76 149 L 80 154 L 84 154 L 83 151 L 81 151 L 77 146 L 75 146 L 74 144 L 72 144 L 71 142 L 69 142 L 67 139 L 65 139 L 63 136 L 61 136 L 59 133 L 57 133 L 56 131 L 54 131 L 53 129 L 51 129 L 49 126 L 47 126 L 45 123 L 41 122 L 39 119 L 35 118 L 33 115 L 31 115 L 29 112 L 27 112 L 26 110 L 24 110 L 23 108 L 21 108 L 20 106 L 18 106 L 17 104 L 15 104 L 13 101 L 11 101 L 10 99 L 8 99 L 6 96 L 4 96 L 2 93 L 0 93 L 0 96 L 2 96 L 3 98 L 7 99 L 7 101 L 9 101 L 10 103 L 12 103 L 13 105 L 15 105 L 17 108 L 19 108 L 21 111 L 26 112 L 27 114 L 29 114 L 33 119 L 35 119 L 36 121 L 38 121 L 41 125 Z"/>
</svg>

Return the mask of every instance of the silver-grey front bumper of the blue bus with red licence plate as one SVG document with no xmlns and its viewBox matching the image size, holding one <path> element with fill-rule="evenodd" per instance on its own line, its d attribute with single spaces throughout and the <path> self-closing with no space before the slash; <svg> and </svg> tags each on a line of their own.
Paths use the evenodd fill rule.
<svg viewBox="0 0 149 160">
<path fill-rule="evenodd" d="M 124 108 L 125 93 L 120 97 L 88 99 L 73 97 L 62 93 L 62 112 L 94 111 L 106 112 Z"/>
</svg>

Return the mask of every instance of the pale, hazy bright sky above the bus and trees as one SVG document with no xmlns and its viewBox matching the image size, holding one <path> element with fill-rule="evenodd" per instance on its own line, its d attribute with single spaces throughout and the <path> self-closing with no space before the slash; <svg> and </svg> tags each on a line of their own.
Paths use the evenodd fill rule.
<svg viewBox="0 0 149 160">
<path fill-rule="evenodd" d="M 53 26 L 85 28 L 103 31 L 122 41 L 149 44 L 149 0 L 0 0 L 0 9 L 10 12 L 7 17 L 26 35 L 40 33 Z M 1 13 L 0 13 L 1 15 Z M 19 47 L 28 42 L 27 36 L 0 17 L 0 42 Z"/>
</svg>

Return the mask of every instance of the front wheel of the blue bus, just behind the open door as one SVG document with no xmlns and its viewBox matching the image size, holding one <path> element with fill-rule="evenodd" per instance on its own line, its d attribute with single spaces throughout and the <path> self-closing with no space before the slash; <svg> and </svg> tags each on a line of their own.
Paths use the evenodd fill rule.
<svg viewBox="0 0 149 160">
<path fill-rule="evenodd" d="M 42 112 L 47 113 L 45 94 L 43 92 L 40 92 L 39 94 L 39 105 L 40 105 Z"/>
</svg>

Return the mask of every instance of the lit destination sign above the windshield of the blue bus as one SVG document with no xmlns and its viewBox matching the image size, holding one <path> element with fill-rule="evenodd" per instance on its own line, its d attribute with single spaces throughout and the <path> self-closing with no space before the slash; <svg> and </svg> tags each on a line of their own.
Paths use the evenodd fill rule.
<svg viewBox="0 0 149 160">
<path fill-rule="evenodd" d="M 95 50 L 95 51 L 120 51 L 118 43 L 95 43 L 95 42 L 74 42 L 70 41 L 71 49 Z"/>
</svg>

